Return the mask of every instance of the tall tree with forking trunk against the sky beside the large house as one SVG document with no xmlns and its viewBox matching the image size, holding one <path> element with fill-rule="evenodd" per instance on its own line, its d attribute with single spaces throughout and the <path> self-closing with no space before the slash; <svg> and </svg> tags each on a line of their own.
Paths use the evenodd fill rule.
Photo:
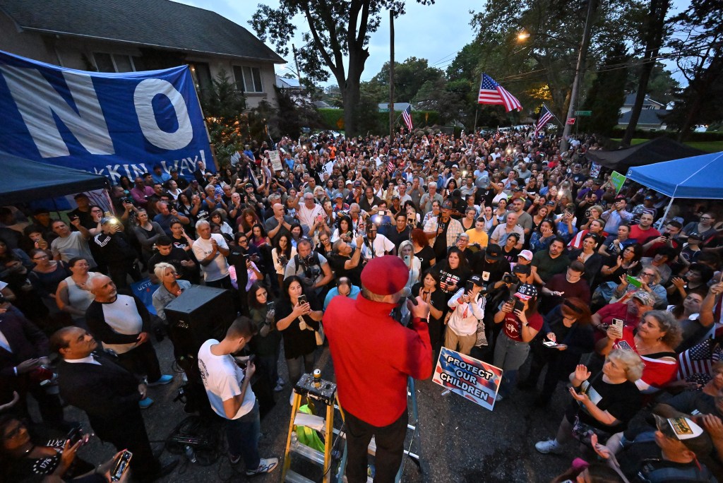
<svg viewBox="0 0 723 483">
<path fill-rule="evenodd" d="M 406 0 L 280 0 L 277 9 L 259 5 L 249 23 L 261 40 L 270 40 L 286 56 L 297 28 L 291 20 L 296 14 L 304 17 L 309 31 L 302 35 L 306 44 L 298 50 L 299 68 L 304 77 L 318 82 L 328 80 L 325 68 L 329 69 L 341 90 L 346 133 L 354 135 L 369 35 L 379 28 L 382 11 L 390 10 L 396 18 L 405 13 L 405 4 Z M 344 56 L 348 57 L 346 66 Z"/>
</svg>

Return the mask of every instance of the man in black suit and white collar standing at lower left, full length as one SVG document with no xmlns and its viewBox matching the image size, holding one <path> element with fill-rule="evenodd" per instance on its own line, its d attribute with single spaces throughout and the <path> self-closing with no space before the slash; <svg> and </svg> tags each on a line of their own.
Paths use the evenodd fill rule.
<svg viewBox="0 0 723 483">
<path fill-rule="evenodd" d="M 85 411 L 101 440 L 133 453 L 134 477 L 151 482 L 173 471 L 178 461 L 161 466 L 150 448 L 138 406 L 145 398 L 146 385 L 110 359 L 91 354 L 98 343 L 82 328 L 62 328 L 50 343 L 63 359 L 58 364 L 61 397 Z"/>
</svg>

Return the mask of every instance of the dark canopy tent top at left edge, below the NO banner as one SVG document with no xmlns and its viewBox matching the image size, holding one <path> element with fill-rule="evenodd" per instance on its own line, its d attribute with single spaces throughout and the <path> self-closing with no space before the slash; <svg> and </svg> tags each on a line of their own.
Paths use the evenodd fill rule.
<svg viewBox="0 0 723 483">
<path fill-rule="evenodd" d="M 108 188 L 106 176 L 0 152 L 0 205 Z"/>
</svg>

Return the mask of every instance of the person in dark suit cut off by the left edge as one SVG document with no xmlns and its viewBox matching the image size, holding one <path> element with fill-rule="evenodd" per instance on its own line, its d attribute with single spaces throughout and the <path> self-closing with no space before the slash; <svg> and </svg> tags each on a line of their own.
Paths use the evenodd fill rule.
<svg viewBox="0 0 723 483">
<path fill-rule="evenodd" d="M 44 368 L 48 364 L 48 338 L 0 295 L 0 403 L 9 401 L 17 391 L 22 400 L 17 408 L 27 416 L 25 398 L 32 393 L 43 422 L 67 429 L 57 394 L 40 385 L 40 379 L 51 374 Z"/>
</svg>

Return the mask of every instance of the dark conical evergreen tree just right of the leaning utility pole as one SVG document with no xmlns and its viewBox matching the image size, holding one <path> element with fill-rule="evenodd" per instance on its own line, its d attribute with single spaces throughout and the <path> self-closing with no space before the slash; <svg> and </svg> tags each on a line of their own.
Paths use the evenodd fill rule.
<svg viewBox="0 0 723 483">
<path fill-rule="evenodd" d="M 628 48 L 624 43 L 617 42 L 610 46 L 582 106 L 584 111 L 592 111 L 592 116 L 580 119 L 580 129 L 607 135 L 617 125 L 620 106 L 625 102 L 625 82 L 628 77 L 628 70 L 618 67 L 624 66 L 629 60 Z"/>
</svg>

